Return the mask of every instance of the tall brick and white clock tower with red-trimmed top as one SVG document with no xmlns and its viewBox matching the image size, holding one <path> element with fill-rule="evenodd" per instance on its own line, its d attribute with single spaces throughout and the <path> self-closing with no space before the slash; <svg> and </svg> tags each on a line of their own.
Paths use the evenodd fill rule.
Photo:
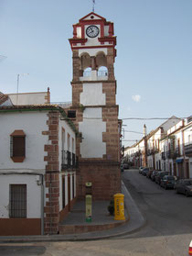
<svg viewBox="0 0 192 256">
<path fill-rule="evenodd" d="M 72 106 L 81 133 L 77 141 L 77 192 L 92 183 L 93 199 L 108 200 L 121 191 L 120 137 L 114 60 L 113 23 L 91 12 L 73 25 Z"/>
</svg>

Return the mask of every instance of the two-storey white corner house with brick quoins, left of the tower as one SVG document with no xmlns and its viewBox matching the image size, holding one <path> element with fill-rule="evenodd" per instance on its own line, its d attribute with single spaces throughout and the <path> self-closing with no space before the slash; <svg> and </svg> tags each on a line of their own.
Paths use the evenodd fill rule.
<svg viewBox="0 0 192 256">
<path fill-rule="evenodd" d="M 0 235 L 59 232 L 76 198 L 77 130 L 59 106 L 0 106 Z"/>
</svg>

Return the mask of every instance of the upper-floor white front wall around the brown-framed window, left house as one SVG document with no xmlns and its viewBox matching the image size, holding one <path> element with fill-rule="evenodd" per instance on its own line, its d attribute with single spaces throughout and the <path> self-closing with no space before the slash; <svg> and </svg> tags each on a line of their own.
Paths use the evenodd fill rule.
<svg viewBox="0 0 192 256">
<path fill-rule="evenodd" d="M 0 172 L 28 170 L 45 171 L 44 145 L 50 143 L 42 131 L 48 130 L 47 112 L 0 113 Z M 26 158 L 23 162 L 14 162 L 10 158 L 10 134 L 16 129 L 23 129 L 26 134 Z"/>
</svg>

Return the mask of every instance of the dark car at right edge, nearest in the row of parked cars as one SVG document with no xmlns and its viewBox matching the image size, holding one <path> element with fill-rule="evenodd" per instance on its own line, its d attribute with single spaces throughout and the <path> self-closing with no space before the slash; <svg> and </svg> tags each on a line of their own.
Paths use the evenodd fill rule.
<svg viewBox="0 0 192 256">
<path fill-rule="evenodd" d="M 175 184 L 176 193 L 192 195 L 192 179 L 180 179 Z"/>
</svg>

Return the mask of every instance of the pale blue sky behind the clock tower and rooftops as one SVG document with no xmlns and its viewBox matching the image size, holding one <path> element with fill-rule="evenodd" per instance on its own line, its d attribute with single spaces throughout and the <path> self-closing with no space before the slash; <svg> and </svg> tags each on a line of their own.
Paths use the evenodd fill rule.
<svg viewBox="0 0 192 256">
<path fill-rule="evenodd" d="M 91 0 L 0 0 L 0 91 L 41 92 L 71 101 L 72 24 L 91 12 Z M 114 23 L 115 78 L 120 118 L 188 117 L 192 110 L 192 1 L 96 0 L 95 12 Z M 147 132 L 165 120 L 124 120 Z M 125 132 L 125 146 L 142 135 Z"/>
</svg>

